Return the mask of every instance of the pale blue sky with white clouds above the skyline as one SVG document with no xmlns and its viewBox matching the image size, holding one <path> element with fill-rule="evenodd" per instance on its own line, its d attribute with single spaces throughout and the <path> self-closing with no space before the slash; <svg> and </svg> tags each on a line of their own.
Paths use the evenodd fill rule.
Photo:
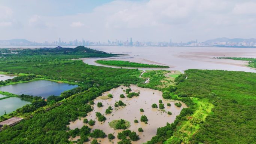
<svg viewBox="0 0 256 144">
<path fill-rule="evenodd" d="M 0 40 L 256 38 L 256 0 L 0 0 Z"/>
</svg>

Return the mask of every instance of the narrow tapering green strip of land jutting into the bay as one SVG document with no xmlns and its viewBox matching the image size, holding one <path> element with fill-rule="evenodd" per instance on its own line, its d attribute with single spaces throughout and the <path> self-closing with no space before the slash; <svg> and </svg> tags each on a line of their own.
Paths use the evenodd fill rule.
<svg viewBox="0 0 256 144">
<path fill-rule="evenodd" d="M 104 60 L 97 60 L 95 61 L 98 64 L 103 65 L 112 65 L 117 67 L 149 67 L 149 68 L 169 68 L 165 65 L 154 65 L 154 64 L 141 64 L 137 62 L 129 62 L 129 61 L 104 61 Z"/>
</svg>

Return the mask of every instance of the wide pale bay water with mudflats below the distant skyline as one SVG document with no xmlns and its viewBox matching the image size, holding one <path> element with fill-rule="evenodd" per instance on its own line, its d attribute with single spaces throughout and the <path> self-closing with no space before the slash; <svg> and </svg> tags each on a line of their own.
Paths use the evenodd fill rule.
<svg viewBox="0 0 256 144">
<path fill-rule="evenodd" d="M 256 72 L 255 68 L 247 67 L 248 61 L 232 59 L 216 59 L 215 57 L 246 57 L 256 58 L 256 48 L 225 48 L 225 47 L 125 47 L 125 46 L 90 46 L 92 49 L 108 53 L 127 54 L 122 57 L 89 58 L 83 61 L 89 65 L 98 65 L 95 60 L 124 60 L 146 64 L 167 65 L 165 70 L 185 71 L 187 69 L 229 70 Z M 105 67 L 113 67 L 106 66 Z M 119 67 L 114 67 L 119 68 Z M 159 68 L 138 68 L 139 70 Z"/>
</svg>

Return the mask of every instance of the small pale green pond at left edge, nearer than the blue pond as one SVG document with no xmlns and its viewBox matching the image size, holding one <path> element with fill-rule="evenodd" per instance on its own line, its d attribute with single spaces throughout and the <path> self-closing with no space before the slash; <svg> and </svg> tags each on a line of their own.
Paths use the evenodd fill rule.
<svg viewBox="0 0 256 144">
<path fill-rule="evenodd" d="M 10 97 L 0 100 L 0 116 L 4 115 L 4 110 L 6 114 L 15 111 L 17 108 L 23 107 L 23 105 L 30 104 L 31 102 L 22 100 L 17 97 Z"/>
</svg>

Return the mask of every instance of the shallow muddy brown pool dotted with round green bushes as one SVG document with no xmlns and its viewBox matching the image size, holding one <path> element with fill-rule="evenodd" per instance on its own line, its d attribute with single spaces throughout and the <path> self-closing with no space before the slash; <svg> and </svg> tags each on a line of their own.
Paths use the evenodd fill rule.
<svg viewBox="0 0 256 144">
<path fill-rule="evenodd" d="M 123 89 L 122 89 L 123 88 Z M 156 135 L 156 130 L 159 127 L 165 126 L 166 123 L 172 123 L 174 122 L 177 115 L 180 114 L 180 111 L 183 107 L 186 107 L 185 104 L 182 103 L 182 107 L 178 108 L 174 105 L 177 101 L 167 101 L 162 98 L 162 92 L 159 92 L 157 90 L 153 89 L 147 89 L 147 88 L 139 88 L 137 86 L 131 85 L 130 88 L 132 89 L 132 92 L 140 92 L 140 96 L 134 96 L 132 98 L 120 98 L 120 94 L 125 94 L 123 90 L 127 89 L 128 87 L 120 86 L 118 88 L 112 89 L 108 92 L 103 93 L 103 96 L 107 94 L 112 94 L 113 98 L 110 99 L 101 99 L 98 97 L 94 100 L 93 108 L 94 110 L 91 111 L 88 116 L 85 118 L 90 120 L 95 120 L 96 123 L 94 126 L 89 126 L 88 124 L 83 123 L 83 119 L 77 119 L 74 122 L 70 122 L 69 128 L 75 129 L 75 128 L 81 128 L 83 125 L 88 125 L 90 128 L 93 129 L 101 129 L 106 134 L 114 133 L 115 139 L 113 142 L 116 144 L 118 141 L 117 134 L 118 132 L 122 132 L 123 130 L 114 130 L 110 128 L 109 122 L 112 120 L 117 119 L 125 119 L 128 120 L 131 123 L 130 129 L 131 131 L 135 131 L 139 137 L 140 140 L 132 142 L 132 144 L 142 144 L 146 141 L 151 140 L 153 136 Z M 153 94 L 154 93 L 154 94 Z M 156 103 L 159 104 L 159 99 L 161 99 L 165 105 L 165 111 L 171 111 L 173 113 L 172 115 L 168 115 L 167 112 L 164 112 L 162 110 L 159 110 L 159 108 L 152 108 L 151 105 Z M 127 106 L 125 107 L 118 107 L 115 108 L 114 104 L 116 101 L 122 100 Z M 98 108 L 97 103 L 102 102 L 103 107 Z M 167 103 L 171 104 L 171 107 L 167 107 Z M 112 114 L 105 114 L 105 110 L 111 106 L 114 110 L 112 111 Z M 144 112 L 140 112 L 140 108 L 144 109 Z M 98 122 L 97 117 L 95 116 L 96 112 L 100 112 L 101 114 L 104 114 L 104 116 L 107 118 L 105 122 Z M 145 124 L 143 122 L 140 122 L 140 117 L 142 115 L 146 115 L 149 119 L 148 124 Z M 134 123 L 134 120 L 137 119 L 139 123 Z M 144 132 L 138 132 L 138 128 L 143 128 Z M 73 140 L 77 140 L 77 138 L 74 138 Z M 108 138 L 98 138 L 98 141 L 101 141 L 101 144 L 112 144 L 112 142 L 109 142 Z M 88 144 L 90 142 L 87 142 Z"/>
</svg>

